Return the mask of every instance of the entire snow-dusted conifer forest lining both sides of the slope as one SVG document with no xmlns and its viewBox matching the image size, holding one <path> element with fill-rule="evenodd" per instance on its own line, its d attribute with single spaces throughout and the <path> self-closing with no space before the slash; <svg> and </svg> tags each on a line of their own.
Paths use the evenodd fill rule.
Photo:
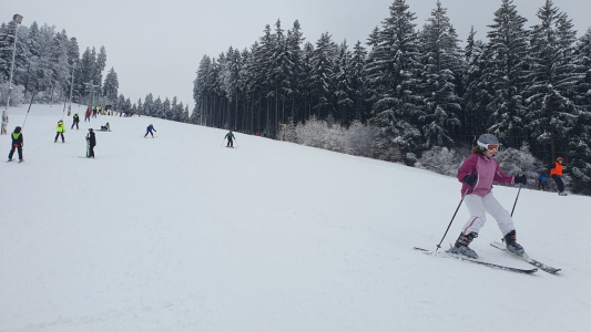
<svg viewBox="0 0 591 332">
<path fill-rule="evenodd" d="M 406 0 L 395 0 L 367 39 L 353 44 L 332 40 L 329 32 L 314 42 L 297 20 L 287 28 L 277 20 L 252 46 L 228 46 L 195 63 L 191 113 L 176 97 L 125 98 L 113 68 L 103 79 L 104 46 L 80 55 L 77 39 L 65 30 L 33 22 L 18 27 L 11 103 L 28 103 L 33 92 L 38 103 L 59 103 L 71 91 L 79 103 L 442 174 L 451 170 L 441 169 L 440 162 L 451 158 L 457 165 L 488 132 L 503 148 L 532 156 L 534 172 L 564 157 L 569 187 L 590 195 L 591 29 L 578 35 L 568 13 L 551 0 L 540 0 L 530 22 L 511 0 L 499 4 L 489 30 L 480 31 L 486 40 L 477 40 L 472 30 L 463 42 L 440 1 L 420 22 Z M 0 104 L 6 103 L 14 27 L 11 21 L 0 28 Z"/>
</svg>

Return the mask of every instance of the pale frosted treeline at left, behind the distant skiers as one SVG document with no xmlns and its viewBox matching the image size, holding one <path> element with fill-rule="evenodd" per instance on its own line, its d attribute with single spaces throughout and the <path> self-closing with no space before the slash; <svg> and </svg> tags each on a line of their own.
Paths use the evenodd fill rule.
<svg viewBox="0 0 591 332">
<path fill-rule="evenodd" d="M 8 80 L 14 49 L 14 28 L 10 21 L 0 27 L 0 105 L 6 104 Z M 35 91 L 38 103 L 57 103 L 69 100 L 72 87 L 72 101 L 89 105 L 112 105 L 114 110 L 130 110 L 134 113 L 187 122 L 188 108 L 166 97 L 155 101 L 152 94 L 132 104 L 130 98 L 119 93 L 119 77 L 113 68 L 104 80 L 106 50 L 101 46 L 86 48 L 80 55 L 77 39 L 68 38 L 65 30 L 58 32 L 54 25 L 40 27 L 32 22 L 30 27 L 17 29 L 17 53 L 12 77 L 11 104 L 28 101 Z M 73 77 L 72 77 L 73 73 Z M 73 85 L 72 83 L 73 79 Z"/>
</svg>

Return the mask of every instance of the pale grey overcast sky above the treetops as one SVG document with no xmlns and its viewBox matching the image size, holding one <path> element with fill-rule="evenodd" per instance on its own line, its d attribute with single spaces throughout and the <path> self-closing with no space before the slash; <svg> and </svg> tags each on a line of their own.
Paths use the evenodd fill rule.
<svg viewBox="0 0 591 332">
<path fill-rule="evenodd" d="M 0 22 L 14 13 L 22 24 L 65 29 L 75 37 L 80 54 L 90 46 L 106 49 L 106 72 L 114 68 L 120 93 L 132 103 L 177 96 L 193 110 L 193 80 L 204 54 L 217 56 L 232 45 L 243 50 L 263 35 L 265 24 L 281 19 L 282 28 L 299 20 L 306 41 L 315 43 L 323 32 L 353 46 L 365 42 L 371 30 L 389 15 L 394 0 L 0 0 Z M 465 41 L 473 25 L 477 39 L 486 39 L 501 0 L 441 0 L 459 38 Z M 536 12 L 544 0 L 514 0 L 527 27 L 538 23 Z M 407 0 L 415 21 L 422 27 L 436 0 Z M 589 0 L 554 0 L 569 14 L 578 35 L 591 27 Z"/>
</svg>

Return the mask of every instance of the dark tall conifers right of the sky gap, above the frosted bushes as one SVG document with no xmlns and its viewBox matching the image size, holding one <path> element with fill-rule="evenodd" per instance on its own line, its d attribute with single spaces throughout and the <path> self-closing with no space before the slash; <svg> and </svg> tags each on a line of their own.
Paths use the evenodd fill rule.
<svg viewBox="0 0 591 332">
<path fill-rule="evenodd" d="M 249 49 L 203 56 L 191 121 L 269 137 L 312 116 L 369 122 L 409 165 L 492 133 L 543 164 L 565 157 L 573 191 L 591 194 L 591 29 L 577 39 L 567 13 L 540 2 L 531 23 L 501 0 L 488 41 L 472 30 L 463 49 L 440 1 L 418 27 L 395 0 L 353 49 L 329 33 L 313 44 L 298 21 L 277 20 Z"/>
</svg>

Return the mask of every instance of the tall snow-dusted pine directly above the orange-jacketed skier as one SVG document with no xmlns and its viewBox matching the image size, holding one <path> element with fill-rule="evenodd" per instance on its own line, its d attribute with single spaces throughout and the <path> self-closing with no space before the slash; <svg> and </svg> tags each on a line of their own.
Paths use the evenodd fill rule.
<svg viewBox="0 0 591 332">
<path fill-rule="evenodd" d="M 539 9 L 540 24 L 531 33 L 531 84 L 528 85 L 528 128 L 543 160 L 564 155 L 580 110 L 572 91 L 583 79 L 572 55 L 575 31 L 551 0 Z"/>
</svg>

